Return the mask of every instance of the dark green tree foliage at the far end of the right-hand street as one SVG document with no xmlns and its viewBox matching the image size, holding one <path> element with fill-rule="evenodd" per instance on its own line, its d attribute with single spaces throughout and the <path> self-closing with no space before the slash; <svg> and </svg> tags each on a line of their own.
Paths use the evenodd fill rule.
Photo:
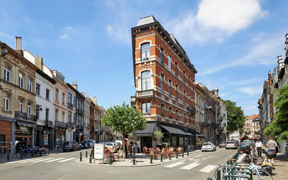
<svg viewBox="0 0 288 180">
<path fill-rule="evenodd" d="M 227 133 L 233 133 L 244 127 L 245 116 L 243 110 L 230 100 L 222 100 L 227 110 Z"/>
</svg>

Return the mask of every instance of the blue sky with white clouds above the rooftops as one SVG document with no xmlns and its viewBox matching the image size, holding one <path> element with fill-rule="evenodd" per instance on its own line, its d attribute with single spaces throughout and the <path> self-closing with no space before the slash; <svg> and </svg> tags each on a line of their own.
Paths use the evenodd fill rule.
<svg viewBox="0 0 288 180">
<path fill-rule="evenodd" d="M 284 57 L 288 1 L 6 1 L 0 41 L 43 54 L 50 69 L 108 108 L 135 95 L 131 27 L 153 15 L 177 38 L 209 89 L 258 114 L 268 70 Z"/>
</svg>

